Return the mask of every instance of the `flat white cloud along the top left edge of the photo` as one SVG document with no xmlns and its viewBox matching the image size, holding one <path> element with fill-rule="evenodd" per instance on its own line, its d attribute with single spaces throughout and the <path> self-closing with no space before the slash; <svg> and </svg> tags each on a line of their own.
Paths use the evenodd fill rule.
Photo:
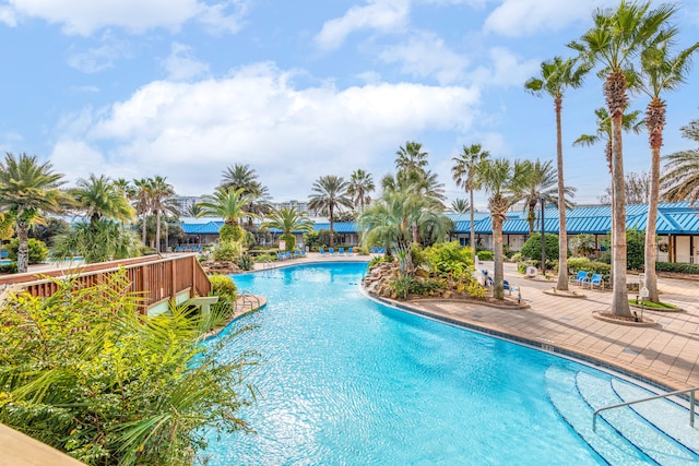
<svg viewBox="0 0 699 466">
<path fill-rule="evenodd" d="M 236 32 L 249 0 L 218 0 L 212 4 L 202 0 L 9 0 L 9 3 L 13 9 L 10 13 L 42 17 L 61 24 L 67 34 L 88 36 L 109 26 L 137 33 L 154 27 L 176 31 L 190 20 L 199 20 L 216 32 Z"/>
</svg>

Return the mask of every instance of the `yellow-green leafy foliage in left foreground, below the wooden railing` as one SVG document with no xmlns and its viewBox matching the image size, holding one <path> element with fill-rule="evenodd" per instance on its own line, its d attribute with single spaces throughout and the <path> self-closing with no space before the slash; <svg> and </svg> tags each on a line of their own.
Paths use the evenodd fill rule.
<svg viewBox="0 0 699 466">
<path fill-rule="evenodd" d="M 203 345 L 210 322 L 187 306 L 140 314 L 123 272 L 56 285 L 0 309 L 0 421 L 90 465 L 189 466 L 206 430 L 249 430 L 251 355 L 220 356 L 235 336 Z"/>
</svg>

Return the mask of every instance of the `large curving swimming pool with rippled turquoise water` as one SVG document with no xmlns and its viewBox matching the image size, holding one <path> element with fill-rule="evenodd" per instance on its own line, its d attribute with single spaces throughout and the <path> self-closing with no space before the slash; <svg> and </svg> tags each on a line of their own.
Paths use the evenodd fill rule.
<svg viewBox="0 0 699 466">
<path fill-rule="evenodd" d="M 588 439 L 591 416 L 576 403 L 605 403 L 609 374 L 376 303 L 358 292 L 365 271 L 327 263 L 234 277 L 268 297 L 262 312 L 232 325 L 259 326 L 228 348 L 264 358 L 250 378 L 261 396 L 240 413 L 257 434 L 212 438 L 208 464 L 664 464 L 674 455 L 653 459 L 613 439 L 618 429 L 606 422 Z"/>
</svg>

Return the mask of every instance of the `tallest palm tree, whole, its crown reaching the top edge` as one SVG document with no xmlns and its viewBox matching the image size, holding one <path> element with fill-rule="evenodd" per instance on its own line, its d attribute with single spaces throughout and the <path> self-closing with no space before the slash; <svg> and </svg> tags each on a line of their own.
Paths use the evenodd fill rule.
<svg viewBox="0 0 699 466">
<path fill-rule="evenodd" d="M 628 107 L 628 83 L 638 82 L 633 60 L 652 44 L 661 44 L 668 35 L 667 21 L 674 7 L 661 4 L 650 9 L 650 1 L 637 4 L 621 0 L 616 10 L 597 9 L 594 26 L 580 41 L 569 44 L 592 65 L 600 64 L 605 74 L 604 96 L 612 118 L 612 313 L 630 318 L 626 290 L 626 203 L 624 190 L 623 119 Z"/>
</svg>

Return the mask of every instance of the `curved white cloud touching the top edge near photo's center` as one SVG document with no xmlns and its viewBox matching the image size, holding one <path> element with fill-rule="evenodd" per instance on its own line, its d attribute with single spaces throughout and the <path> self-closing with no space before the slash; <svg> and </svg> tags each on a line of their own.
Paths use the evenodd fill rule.
<svg viewBox="0 0 699 466">
<path fill-rule="evenodd" d="M 390 33 L 406 27 L 410 0 L 367 0 L 367 3 L 352 7 L 344 16 L 325 22 L 316 36 L 316 44 L 323 50 L 333 50 L 355 31 Z"/>
</svg>

